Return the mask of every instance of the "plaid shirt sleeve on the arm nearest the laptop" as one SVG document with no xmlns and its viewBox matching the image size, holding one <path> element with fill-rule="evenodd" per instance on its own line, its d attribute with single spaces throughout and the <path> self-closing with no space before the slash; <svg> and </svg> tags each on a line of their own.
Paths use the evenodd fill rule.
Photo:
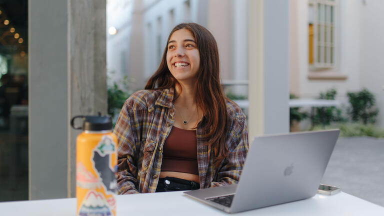
<svg viewBox="0 0 384 216">
<path fill-rule="evenodd" d="M 229 142 L 228 156 L 224 159 L 216 173 L 214 178 L 216 181 L 212 181 L 210 187 L 238 182 L 249 148 L 248 131 L 245 120 L 238 122 L 237 128 L 229 132 L 227 142 Z M 231 149 L 231 146 L 234 147 Z"/>
</svg>

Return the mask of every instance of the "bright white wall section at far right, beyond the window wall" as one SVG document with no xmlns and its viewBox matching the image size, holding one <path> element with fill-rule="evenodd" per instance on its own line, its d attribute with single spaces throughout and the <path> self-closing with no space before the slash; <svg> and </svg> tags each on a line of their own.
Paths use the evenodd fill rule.
<svg viewBox="0 0 384 216">
<path fill-rule="evenodd" d="M 379 107 L 377 124 L 384 127 L 384 2 L 365 0 L 360 4 L 360 83 L 376 98 Z"/>
</svg>

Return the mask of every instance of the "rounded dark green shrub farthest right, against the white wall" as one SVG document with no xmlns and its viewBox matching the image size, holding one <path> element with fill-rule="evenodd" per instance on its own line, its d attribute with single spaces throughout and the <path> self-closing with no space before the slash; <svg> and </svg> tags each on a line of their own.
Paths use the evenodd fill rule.
<svg viewBox="0 0 384 216">
<path fill-rule="evenodd" d="M 352 121 L 361 121 L 363 124 L 374 123 L 378 114 L 378 109 L 374 107 L 374 95 L 363 88 L 358 92 L 347 92 L 349 103 L 351 105 L 348 113 Z"/>
</svg>

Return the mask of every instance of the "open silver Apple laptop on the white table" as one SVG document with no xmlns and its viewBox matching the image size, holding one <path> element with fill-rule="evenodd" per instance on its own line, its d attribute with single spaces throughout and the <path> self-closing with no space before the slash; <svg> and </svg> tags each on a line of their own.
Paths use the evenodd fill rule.
<svg viewBox="0 0 384 216">
<path fill-rule="evenodd" d="M 184 192 L 229 213 L 316 194 L 338 129 L 255 137 L 237 184 Z"/>
</svg>

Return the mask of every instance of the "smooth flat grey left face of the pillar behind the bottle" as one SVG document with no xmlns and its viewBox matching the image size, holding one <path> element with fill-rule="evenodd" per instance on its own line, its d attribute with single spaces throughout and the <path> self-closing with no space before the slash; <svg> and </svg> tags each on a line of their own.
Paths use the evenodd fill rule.
<svg viewBox="0 0 384 216">
<path fill-rule="evenodd" d="M 29 199 L 67 195 L 67 1 L 28 1 Z"/>
</svg>

